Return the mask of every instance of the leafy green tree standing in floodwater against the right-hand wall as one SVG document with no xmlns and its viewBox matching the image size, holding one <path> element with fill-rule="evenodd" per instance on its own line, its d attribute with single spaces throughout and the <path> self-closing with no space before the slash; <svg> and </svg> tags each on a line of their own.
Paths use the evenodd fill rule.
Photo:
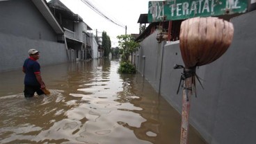
<svg viewBox="0 0 256 144">
<path fill-rule="evenodd" d="M 138 42 L 131 35 L 118 35 L 119 47 L 122 48 L 122 57 L 118 73 L 136 73 L 136 67 L 129 62 L 129 56 L 138 50 Z"/>
</svg>

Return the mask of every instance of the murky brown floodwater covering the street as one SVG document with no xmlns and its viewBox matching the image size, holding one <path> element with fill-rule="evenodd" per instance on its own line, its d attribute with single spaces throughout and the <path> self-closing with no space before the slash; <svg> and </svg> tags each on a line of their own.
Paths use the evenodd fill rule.
<svg viewBox="0 0 256 144">
<path fill-rule="evenodd" d="M 0 73 L 0 143 L 179 143 L 181 116 L 118 60 L 42 67 L 50 96 L 25 99 L 22 71 Z M 205 143 L 190 127 L 189 143 Z"/>
</svg>

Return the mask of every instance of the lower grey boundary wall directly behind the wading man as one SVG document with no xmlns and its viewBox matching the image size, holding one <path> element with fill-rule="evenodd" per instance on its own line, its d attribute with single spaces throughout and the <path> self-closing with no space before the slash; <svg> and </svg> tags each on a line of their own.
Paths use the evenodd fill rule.
<svg viewBox="0 0 256 144">
<path fill-rule="evenodd" d="M 42 66 L 68 62 L 65 44 L 0 33 L 0 72 L 22 69 L 30 48 L 40 51 Z"/>
</svg>

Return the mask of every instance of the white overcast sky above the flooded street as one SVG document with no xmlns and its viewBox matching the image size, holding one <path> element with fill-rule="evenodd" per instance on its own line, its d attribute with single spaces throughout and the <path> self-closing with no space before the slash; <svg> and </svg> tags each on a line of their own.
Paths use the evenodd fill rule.
<svg viewBox="0 0 256 144">
<path fill-rule="evenodd" d="M 47 0 L 50 1 L 50 0 Z M 83 21 L 93 30 L 91 33 L 106 31 L 111 38 L 111 46 L 118 46 L 116 36 L 125 35 L 125 28 L 113 24 L 104 17 L 98 15 L 81 0 L 60 0 L 67 8 L 83 18 Z M 88 0 L 99 9 L 106 17 L 115 23 L 127 26 L 127 35 L 139 33 L 138 18 L 141 14 L 147 13 L 148 1 L 150 0 Z M 102 36 L 102 33 L 98 33 Z"/>
</svg>

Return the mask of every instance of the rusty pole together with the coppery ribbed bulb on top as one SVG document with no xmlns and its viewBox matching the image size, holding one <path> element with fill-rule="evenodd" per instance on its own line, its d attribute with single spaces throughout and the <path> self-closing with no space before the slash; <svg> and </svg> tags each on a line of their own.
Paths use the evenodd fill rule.
<svg viewBox="0 0 256 144">
<path fill-rule="evenodd" d="M 233 35 L 234 27 L 232 23 L 216 17 L 195 17 L 182 21 L 179 33 L 179 48 L 185 66 L 176 64 L 174 67 L 174 69 L 184 69 L 180 80 L 180 82 L 184 80 L 181 144 L 189 143 L 191 95 L 193 88 L 195 89 L 195 78 L 200 82 L 198 75 L 195 73 L 195 68 L 214 62 L 221 57 L 230 46 Z"/>
</svg>

